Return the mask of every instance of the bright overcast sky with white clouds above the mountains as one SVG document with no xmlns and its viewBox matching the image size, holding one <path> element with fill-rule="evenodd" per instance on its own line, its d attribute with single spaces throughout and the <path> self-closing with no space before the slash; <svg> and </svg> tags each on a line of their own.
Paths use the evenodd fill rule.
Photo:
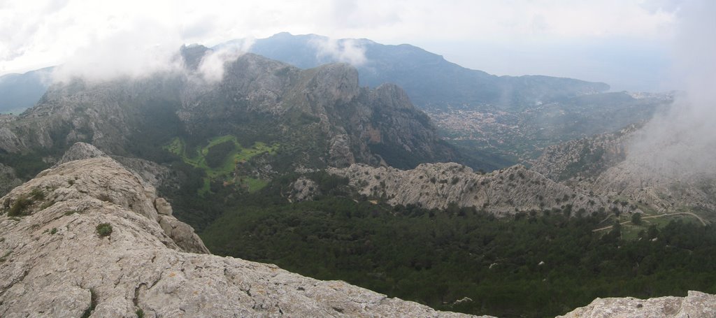
<svg viewBox="0 0 716 318">
<path fill-rule="evenodd" d="M 690 0 L 683 0 L 690 1 Z M 679 88 L 671 80 L 678 0 L 0 0 L 0 74 L 145 57 L 278 32 L 414 44 L 493 74 Z M 716 13 L 715 13 L 716 14 Z"/>
</svg>

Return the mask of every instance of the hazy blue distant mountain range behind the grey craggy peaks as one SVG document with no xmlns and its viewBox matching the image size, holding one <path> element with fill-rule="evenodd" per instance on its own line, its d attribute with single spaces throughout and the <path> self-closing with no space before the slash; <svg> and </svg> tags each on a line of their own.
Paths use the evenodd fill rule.
<svg viewBox="0 0 716 318">
<path fill-rule="evenodd" d="M 232 47 L 246 40 L 218 44 Z M 279 33 L 256 39 L 248 52 L 309 69 L 322 64 L 349 62 L 360 74 L 360 84 L 402 87 L 417 107 L 432 109 L 495 105 L 519 110 L 525 105 L 604 92 L 609 85 L 560 77 L 495 76 L 446 61 L 440 55 L 410 44 L 384 45 L 368 39 L 329 39 L 316 34 Z M 0 77 L 0 111 L 22 110 L 39 100 L 52 68 Z M 21 90 L 17 90 L 21 85 Z"/>
</svg>

